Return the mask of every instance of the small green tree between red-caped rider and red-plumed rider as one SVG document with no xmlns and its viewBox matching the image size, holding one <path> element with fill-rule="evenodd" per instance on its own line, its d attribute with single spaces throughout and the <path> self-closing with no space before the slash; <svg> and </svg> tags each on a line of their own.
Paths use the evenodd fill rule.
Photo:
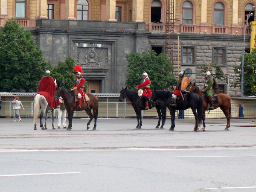
<svg viewBox="0 0 256 192">
<path fill-rule="evenodd" d="M 75 60 L 71 56 L 67 56 L 65 61 L 58 61 L 58 65 L 52 68 L 51 76 L 56 79 L 60 87 L 71 89 L 75 84 L 76 75 L 73 73 Z M 84 89 L 87 89 L 87 81 L 85 81 Z"/>
</svg>

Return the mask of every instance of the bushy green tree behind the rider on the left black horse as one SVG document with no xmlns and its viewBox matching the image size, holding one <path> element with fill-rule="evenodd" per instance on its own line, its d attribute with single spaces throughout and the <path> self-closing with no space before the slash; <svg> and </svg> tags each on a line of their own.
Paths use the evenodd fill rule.
<svg viewBox="0 0 256 192">
<path fill-rule="evenodd" d="M 177 83 L 177 79 L 171 71 L 174 69 L 168 55 L 156 52 L 131 52 L 126 55 L 128 61 L 128 73 L 125 74 L 126 86 L 133 90 L 135 85 L 141 84 L 142 73 L 148 73 L 151 80 L 151 90 L 168 89 Z"/>
</svg>

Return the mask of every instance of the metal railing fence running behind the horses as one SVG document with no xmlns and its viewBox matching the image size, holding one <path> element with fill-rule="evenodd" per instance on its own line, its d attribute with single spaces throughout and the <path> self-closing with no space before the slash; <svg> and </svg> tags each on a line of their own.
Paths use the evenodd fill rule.
<svg viewBox="0 0 256 192">
<path fill-rule="evenodd" d="M 25 118 L 33 117 L 33 102 L 22 102 L 25 111 L 20 110 L 20 116 Z M 6 116 L 10 118 L 14 116 L 14 109 L 12 109 L 13 105 L 9 101 L 4 101 L 1 104 L 0 116 Z M 38 115 L 41 111 L 39 111 Z M 206 111 L 206 118 L 226 118 L 224 113 L 220 108 L 215 110 Z M 56 112 L 55 112 L 56 113 Z M 51 117 L 52 113 L 49 113 L 48 116 Z M 58 116 L 58 114 L 55 114 Z M 75 117 L 87 117 L 87 113 L 85 111 L 76 111 L 74 113 Z M 142 116 L 145 118 L 157 118 L 157 111 L 155 108 L 143 111 Z M 99 102 L 99 117 L 102 118 L 112 118 L 112 117 L 120 117 L 120 118 L 136 118 L 136 113 L 134 112 L 133 107 L 130 102 Z M 169 110 L 167 109 L 167 118 L 170 118 Z M 176 118 L 194 118 L 191 109 L 187 109 L 185 111 L 176 111 Z M 231 107 L 231 118 L 233 119 L 256 119 L 256 106 L 232 106 Z"/>
</svg>

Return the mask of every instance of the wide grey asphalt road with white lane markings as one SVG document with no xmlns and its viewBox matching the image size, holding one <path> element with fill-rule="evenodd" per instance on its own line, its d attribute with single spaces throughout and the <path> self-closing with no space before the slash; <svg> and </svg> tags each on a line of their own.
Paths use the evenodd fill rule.
<svg viewBox="0 0 256 192">
<path fill-rule="evenodd" d="M 72 131 L 33 130 L 32 119 L 0 119 L 0 191 L 256 191 L 253 119 L 73 119 Z M 57 119 L 55 119 L 55 124 Z M 90 127 L 93 127 L 93 122 Z M 91 129 L 90 128 L 90 129 Z"/>
</svg>

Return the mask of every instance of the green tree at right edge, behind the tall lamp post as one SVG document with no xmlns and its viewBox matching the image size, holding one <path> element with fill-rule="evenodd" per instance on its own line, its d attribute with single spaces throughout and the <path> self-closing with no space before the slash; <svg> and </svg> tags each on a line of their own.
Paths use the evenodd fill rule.
<svg viewBox="0 0 256 192">
<path fill-rule="evenodd" d="M 242 61 L 242 56 L 240 56 L 239 61 Z M 235 73 L 238 69 L 241 70 L 242 64 L 239 66 L 233 66 Z M 253 49 L 251 53 L 244 53 L 244 95 L 256 96 L 256 49 Z M 239 74 L 239 79 L 235 81 L 232 87 L 241 86 L 241 73 Z"/>
</svg>

